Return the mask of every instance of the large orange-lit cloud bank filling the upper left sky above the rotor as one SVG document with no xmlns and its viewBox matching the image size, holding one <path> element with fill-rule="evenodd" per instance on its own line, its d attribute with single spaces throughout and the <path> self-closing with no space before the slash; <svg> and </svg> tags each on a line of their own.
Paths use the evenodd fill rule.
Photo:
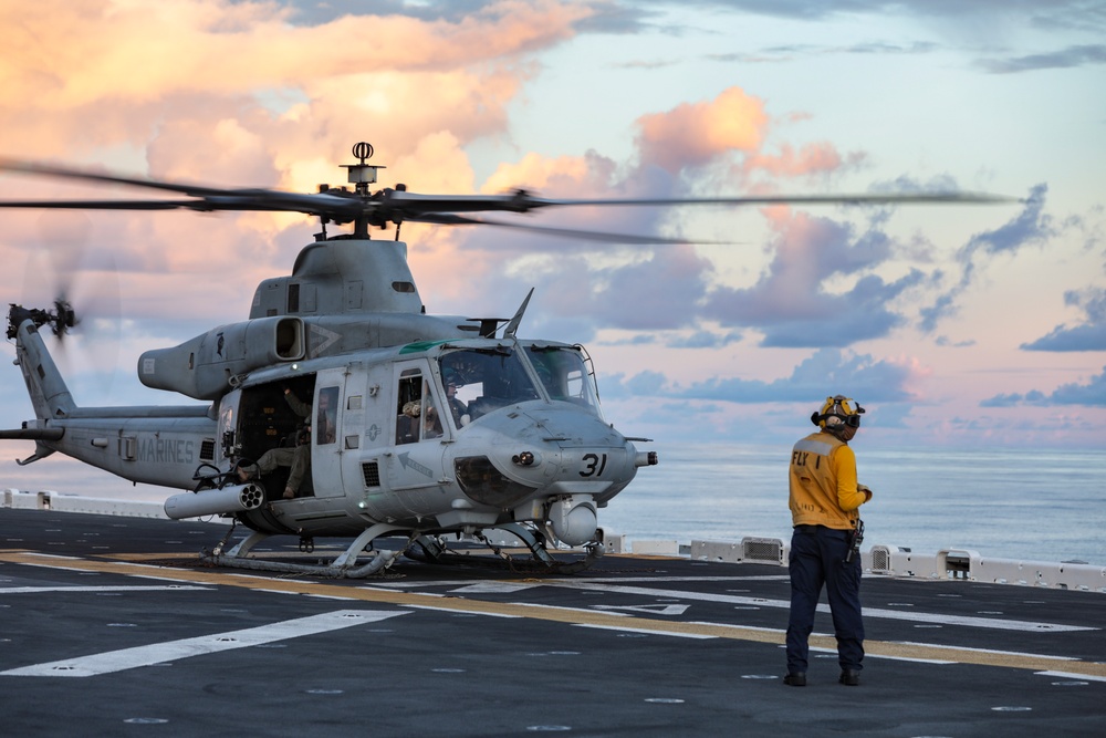
<svg viewBox="0 0 1106 738">
<path fill-rule="evenodd" d="M 296 156 L 337 158 L 365 131 L 386 137 L 380 154 L 404 152 L 441 129 L 501 129 L 525 59 L 572 38 L 589 12 L 500 2 L 455 21 L 296 25 L 272 2 L 8 3 L 0 125 L 6 146 L 32 158 L 140 150 L 167 122 L 202 132 L 227 119 L 267 142 L 282 169 Z M 274 100 L 286 105 L 275 115 Z M 211 164 L 204 153 L 218 149 L 200 143 L 177 158 Z"/>
</svg>

